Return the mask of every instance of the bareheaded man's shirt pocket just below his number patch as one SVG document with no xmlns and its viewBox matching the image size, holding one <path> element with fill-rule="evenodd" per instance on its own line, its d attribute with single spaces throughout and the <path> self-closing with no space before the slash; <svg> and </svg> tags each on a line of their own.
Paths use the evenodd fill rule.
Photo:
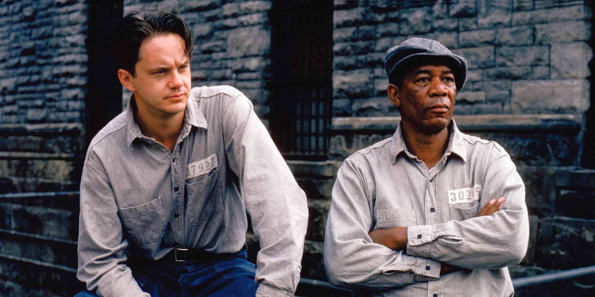
<svg viewBox="0 0 595 297">
<path fill-rule="evenodd" d="M 206 178 L 199 181 L 186 183 L 186 193 L 186 216 L 192 225 L 199 225 L 213 214 L 223 212 L 223 194 L 219 185 L 218 170 L 212 170 Z"/>
</svg>

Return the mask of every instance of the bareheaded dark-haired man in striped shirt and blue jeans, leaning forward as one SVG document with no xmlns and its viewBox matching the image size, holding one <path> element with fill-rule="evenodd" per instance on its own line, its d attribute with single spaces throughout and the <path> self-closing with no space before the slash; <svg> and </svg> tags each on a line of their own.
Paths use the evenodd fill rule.
<svg viewBox="0 0 595 297">
<path fill-rule="evenodd" d="M 133 94 L 87 151 L 77 296 L 292 296 L 306 198 L 252 103 L 191 89 L 192 36 L 176 15 L 131 12 L 114 46 Z"/>
</svg>

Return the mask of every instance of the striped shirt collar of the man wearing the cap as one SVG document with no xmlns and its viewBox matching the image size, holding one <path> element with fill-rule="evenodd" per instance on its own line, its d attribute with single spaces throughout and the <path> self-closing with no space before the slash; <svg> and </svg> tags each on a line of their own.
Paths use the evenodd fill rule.
<svg viewBox="0 0 595 297">
<path fill-rule="evenodd" d="M 467 150 L 463 145 L 463 135 L 461 131 L 459 131 L 459 128 L 456 127 L 455 119 L 450 119 L 450 124 L 448 125 L 447 129 L 450 130 L 450 138 L 448 146 L 446 147 L 446 151 L 444 151 L 444 157 L 448 157 L 451 153 L 453 153 L 456 154 L 456 156 L 459 156 L 463 162 L 466 162 Z M 399 156 L 400 153 L 405 153 L 411 159 L 417 159 L 417 157 L 407 149 L 405 140 L 403 140 L 400 122 L 393 134 L 393 144 L 391 151 L 393 163 L 396 162 L 397 156 Z"/>
</svg>

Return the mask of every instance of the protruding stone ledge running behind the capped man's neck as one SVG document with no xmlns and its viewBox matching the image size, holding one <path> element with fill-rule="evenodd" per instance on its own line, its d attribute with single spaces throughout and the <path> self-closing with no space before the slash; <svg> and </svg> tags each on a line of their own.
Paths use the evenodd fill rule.
<svg viewBox="0 0 595 297">
<path fill-rule="evenodd" d="M 568 132 L 578 131 L 581 117 L 572 114 L 563 115 L 453 115 L 459 129 L 464 132 Z M 375 132 L 389 134 L 394 132 L 400 116 L 370 117 L 335 117 L 330 132 Z"/>
</svg>

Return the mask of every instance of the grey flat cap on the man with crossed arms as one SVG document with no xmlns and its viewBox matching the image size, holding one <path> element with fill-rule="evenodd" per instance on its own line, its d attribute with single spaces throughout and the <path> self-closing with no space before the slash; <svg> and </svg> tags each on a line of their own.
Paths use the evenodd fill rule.
<svg viewBox="0 0 595 297">
<path fill-rule="evenodd" d="M 384 56 L 384 67 L 389 78 L 393 74 L 399 74 L 404 69 L 405 62 L 418 58 L 431 58 L 434 61 L 443 61 L 449 66 L 455 75 L 456 90 L 459 91 L 465 86 L 467 79 L 467 62 L 462 56 L 455 55 L 445 48 L 440 42 L 425 38 L 410 38 L 397 46 L 393 46 Z"/>
</svg>

